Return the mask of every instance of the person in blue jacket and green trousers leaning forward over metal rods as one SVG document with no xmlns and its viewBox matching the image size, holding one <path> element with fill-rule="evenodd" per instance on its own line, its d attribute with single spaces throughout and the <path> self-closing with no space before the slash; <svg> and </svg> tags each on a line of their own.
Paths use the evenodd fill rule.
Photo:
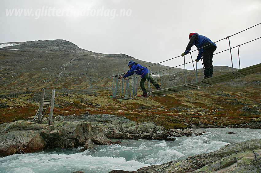
<svg viewBox="0 0 261 173">
<path fill-rule="evenodd" d="M 149 80 L 150 78 L 150 83 L 152 83 L 154 85 L 154 87 L 156 87 L 157 90 L 161 90 L 162 88 L 159 86 L 159 84 L 156 82 L 156 80 L 154 80 L 151 75 L 150 75 L 150 71 L 148 68 L 143 67 L 142 65 L 135 63 L 133 61 L 129 61 L 128 66 L 130 68 L 129 71 L 127 71 L 124 75 L 124 77 L 129 77 L 131 75 L 134 74 L 134 71 L 136 71 L 137 75 L 140 75 L 141 80 L 140 80 L 140 87 L 142 89 L 142 97 L 147 97 L 147 90 L 145 88 L 145 81 Z M 123 76 L 120 75 L 119 79 L 122 79 Z"/>
</svg>

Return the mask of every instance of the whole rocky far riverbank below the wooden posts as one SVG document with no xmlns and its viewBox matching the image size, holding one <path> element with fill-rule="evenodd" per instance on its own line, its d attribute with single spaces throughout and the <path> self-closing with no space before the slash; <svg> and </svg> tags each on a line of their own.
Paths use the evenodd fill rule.
<svg viewBox="0 0 261 173">
<path fill-rule="evenodd" d="M 49 148 L 71 148 L 110 145 L 120 142 L 110 139 L 175 140 L 176 136 L 191 136 L 192 131 L 165 130 L 152 122 L 134 122 L 109 114 L 59 116 L 53 125 L 15 121 L 0 125 L 0 156 L 29 153 Z"/>
</svg>

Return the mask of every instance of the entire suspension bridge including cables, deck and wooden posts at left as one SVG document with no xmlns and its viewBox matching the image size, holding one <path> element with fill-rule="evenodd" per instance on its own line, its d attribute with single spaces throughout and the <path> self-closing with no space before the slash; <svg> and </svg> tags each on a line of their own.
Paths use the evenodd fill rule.
<svg viewBox="0 0 261 173">
<path fill-rule="evenodd" d="M 261 24 L 261 23 L 259 23 L 259 24 Z M 257 26 L 259 24 L 256 24 L 255 26 Z M 252 26 L 250 28 L 253 28 L 255 26 Z M 246 31 L 250 28 L 247 28 L 243 31 Z M 236 34 L 239 34 L 243 31 L 240 31 Z M 225 73 L 225 74 L 214 76 L 212 78 L 208 78 L 208 79 L 198 81 L 197 80 L 197 62 L 193 61 L 193 58 L 192 58 L 192 55 L 191 55 L 192 52 L 196 51 L 196 50 L 194 50 L 192 52 L 189 52 L 190 57 L 191 57 L 190 62 L 185 63 L 185 56 L 184 56 L 184 64 L 180 64 L 180 65 L 177 65 L 175 67 L 171 67 L 171 68 L 176 68 L 176 67 L 184 65 L 185 84 L 179 85 L 179 86 L 174 86 L 174 87 L 163 88 L 163 86 L 162 86 L 162 71 L 169 70 L 171 68 L 161 70 L 159 72 L 160 72 L 160 78 L 161 78 L 161 87 L 163 89 L 156 90 L 156 91 L 150 91 L 150 81 L 148 81 L 147 82 L 148 96 L 149 95 L 165 96 L 165 94 L 169 94 L 169 93 L 173 93 L 173 92 L 179 92 L 179 91 L 182 91 L 182 90 L 189 90 L 189 89 L 199 90 L 200 87 L 209 87 L 209 86 L 216 84 L 216 83 L 224 82 L 224 81 L 231 80 L 231 79 L 239 79 L 239 78 L 242 78 L 242 77 L 246 77 L 246 75 L 261 72 L 261 63 L 241 69 L 240 68 L 240 56 L 239 56 L 239 47 L 240 46 L 247 44 L 249 42 L 255 41 L 257 39 L 260 39 L 261 37 L 254 39 L 254 40 L 251 40 L 251 41 L 248 41 L 248 42 L 245 42 L 241 45 L 231 47 L 230 37 L 232 37 L 236 34 L 233 34 L 231 36 L 224 38 L 224 39 L 228 39 L 228 42 L 229 42 L 229 49 L 227 49 L 227 50 L 230 50 L 232 72 L 228 72 L 228 73 Z M 224 39 L 221 39 L 221 40 L 224 40 Z M 221 40 L 218 40 L 216 42 L 219 42 Z M 234 69 L 234 67 L 233 67 L 232 53 L 231 53 L 231 50 L 233 48 L 236 48 L 236 47 L 237 47 L 237 50 L 238 50 L 238 60 L 239 60 L 239 69 L 238 70 Z M 197 50 L 199 50 L 199 49 L 197 49 Z M 223 50 L 221 52 L 224 52 L 224 51 L 227 51 L 227 50 Z M 218 52 L 218 53 L 221 53 L 221 52 Z M 215 54 L 217 54 L 217 53 L 215 53 Z M 178 58 L 178 57 L 181 57 L 181 56 L 173 57 L 171 59 L 159 62 L 157 64 L 161 64 L 163 62 L 166 62 L 166 61 L 172 60 L 174 58 Z M 195 64 L 196 67 L 194 66 L 194 62 L 196 62 L 196 64 Z M 201 62 L 202 62 L 202 60 L 201 60 Z M 194 83 L 187 83 L 187 81 L 186 81 L 186 66 L 185 65 L 189 64 L 189 63 L 193 64 L 193 68 L 194 68 L 194 72 L 195 72 L 195 78 L 196 78 L 196 82 L 194 82 Z M 153 64 L 153 65 L 156 65 L 156 64 Z M 151 65 L 151 66 L 153 66 L 153 65 Z M 202 62 L 202 65 L 203 65 L 203 62 Z M 146 68 L 149 68 L 151 66 L 148 66 Z M 204 69 L 204 67 L 203 67 L 203 69 Z M 154 73 L 159 73 L 159 72 L 154 72 Z M 151 73 L 151 74 L 154 74 L 154 73 Z M 117 98 L 117 99 L 134 99 L 134 98 L 137 98 L 137 96 L 138 96 L 137 95 L 137 84 L 138 84 L 138 80 L 139 80 L 140 77 L 136 74 L 136 71 L 134 71 L 133 77 L 125 78 L 125 76 L 124 76 L 125 74 L 122 74 L 122 75 L 123 75 L 122 79 L 120 79 L 120 75 L 108 76 L 108 77 L 103 77 L 103 78 L 98 78 L 98 79 L 112 78 L 112 98 Z M 88 81 L 95 81 L 95 80 L 98 80 L 98 79 L 91 79 L 91 80 L 86 80 L 86 81 L 81 81 L 81 82 L 69 83 L 69 84 L 64 84 L 64 85 L 60 85 L 60 86 L 52 86 L 52 87 L 49 87 L 49 88 L 54 88 L 54 87 L 57 88 L 57 87 L 62 87 L 62 86 L 64 87 L 66 85 L 72 85 L 72 84 L 76 84 L 76 83 L 84 83 L 84 82 L 88 82 Z M 102 83 L 110 83 L 110 82 L 107 81 L 107 82 L 102 82 Z M 99 84 L 99 83 L 96 83 L 96 84 Z M 91 85 L 93 85 L 93 84 L 91 84 Z M 82 86 L 86 86 L 86 85 L 82 85 Z M 80 87 L 80 86 L 77 85 L 77 87 Z M 62 88 L 62 89 L 68 89 L 68 88 L 71 88 L 71 87 L 66 87 L 66 88 Z M 23 88 L 23 89 L 25 89 L 25 88 Z M 38 123 L 41 123 L 41 120 L 43 119 L 43 116 L 45 115 L 46 109 L 48 109 L 49 105 L 51 105 L 51 110 L 50 110 L 50 115 L 49 115 L 49 124 L 52 124 L 53 106 L 54 106 L 54 93 L 55 93 L 55 90 L 52 91 L 52 101 L 46 101 L 46 100 L 44 100 L 45 88 L 43 88 L 42 94 L 41 94 L 40 107 L 39 107 L 33 121 L 37 121 Z"/>
</svg>

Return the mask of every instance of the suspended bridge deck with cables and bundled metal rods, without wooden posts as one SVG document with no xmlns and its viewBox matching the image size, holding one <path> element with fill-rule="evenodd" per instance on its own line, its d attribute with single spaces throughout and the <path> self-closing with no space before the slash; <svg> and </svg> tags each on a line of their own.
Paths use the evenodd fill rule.
<svg viewBox="0 0 261 173">
<path fill-rule="evenodd" d="M 259 24 L 257 24 L 257 25 L 259 25 Z M 257 26 L 257 25 L 255 25 L 255 26 Z M 250 28 L 253 28 L 255 26 L 252 26 Z M 247 29 L 245 29 L 243 31 L 246 31 L 246 30 L 248 30 L 250 28 L 247 28 Z M 243 31 L 240 31 L 240 32 L 238 32 L 236 34 L 239 34 L 239 33 L 243 32 Z M 244 44 L 247 44 L 249 42 L 252 42 L 252 41 L 255 41 L 255 40 L 261 38 L 261 37 L 259 37 L 257 39 L 251 40 L 249 42 L 245 42 L 245 43 L 243 43 L 241 45 L 238 45 L 238 46 L 235 46 L 235 47 L 231 47 L 231 45 L 230 45 L 230 37 L 232 37 L 232 36 L 234 36 L 236 34 L 233 34 L 231 36 L 228 36 L 228 37 L 224 38 L 224 39 L 228 39 L 228 42 L 229 42 L 229 49 L 227 49 L 227 50 L 230 50 L 230 57 L 231 57 L 231 63 L 232 63 L 232 72 L 228 72 L 228 73 L 225 73 L 225 74 L 222 74 L 222 75 L 214 76 L 212 78 L 208 78 L 208 79 L 204 79 L 204 80 L 201 80 L 201 81 L 197 81 L 197 62 L 193 61 L 193 58 L 192 58 L 192 55 L 191 55 L 192 52 L 196 51 L 196 50 L 194 50 L 192 52 L 189 52 L 189 54 L 191 56 L 191 60 L 192 60 L 189 63 L 193 64 L 193 68 L 194 68 L 194 71 L 195 71 L 195 78 L 196 78 L 196 82 L 195 83 L 187 83 L 186 82 L 186 67 L 185 67 L 185 65 L 188 64 L 188 63 L 185 63 L 185 56 L 184 56 L 184 64 L 181 64 L 181 65 L 184 65 L 185 84 L 179 85 L 179 86 L 174 86 L 174 87 L 169 87 L 169 88 L 164 88 L 164 89 L 161 89 L 161 90 L 150 91 L 150 81 L 148 81 L 148 84 L 147 84 L 147 90 L 149 91 L 148 94 L 158 95 L 158 96 L 165 96 L 165 94 L 169 94 L 169 93 L 173 93 L 173 92 L 179 92 L 179 91 L 182 91 L 182 90 L 188 90 L 188 89 L 196 89 L 196 90 L 198 90 L 198 89 L 200 89 L 200 87 L 209 87 L 212 84 L 224 82 L 224 81 L 231 80 L 231 79 L 239 79 L 239 78 L 242 78 L 242 77 L 246 77 L 246 75 L 250 75 L 250 74 L 253 74 L 253 73 L 261 72 L 261 63 L 260 64 L 256 64 L 256 65 L 252 65 L 250 67 L 242 68 L 242 69 L 240 68 L 239 70 L 234 70 L 231 50 L 233 48 L 237 47 L 237 49 L 238 49 L 239 67 L 240 67 L 239 47 L 244 45 Z M 224 40 L 224 39 L 221 39 L 221 40 Z M 216 42 L 219 42 L 221 40 L 218 40 Z M 197 50 L 199 50 L 199 49 L 197 49 Z M 227 51 L 227 50 L 223 50 L 221 52 L 224 52 L 224 51 Z M 221 52 L 218 52 L 218 53 L 221 53 Z M 215 53 L 215 54 L 217 54 L 217 53 Z M 178 57 L 181 57 L 181 56 L 178 56 Z M 174 57 L 174 58 L 177 58 L 177 57 Z M 174 58 L 168 59 L 166 61 L 172 60 Z M 160 63 L 163 63 L 163 62 L 165 62 L 165 61 L 162 61 Z M 194 67 L 194 62 L 196 62 L 196 69 Z M 202 62 L 202 59 L 201 59 L 201 62 Z M 157 63 L 157 64 L 160 64 L 160 63 Z M 156 64 L 153 64 L 153 65 L 156 65 Z M 151 66 L 153 66 L 153 65 L 151 65 Z M 181 65 L 177 65 L 175 67 L 179 67 Z M 202 65 L 203 65 L 203 62 L 202 62 Z M 146 67 L 146 68 L 149 68 L 149 67 Z M 171 68 L 175 68 L 175 67 L 171 67 Z M 168 69 L 171 69 L 171 68 L 168 68 Z M 165 69 L 165 70 L 168 70 L 168 69 Z M 204 67 L 203 67 L 203 69 L 204 69 Z M 164 71 L 164 70 L 162 70 L 162 71 Z M 161 73 L 162 71 L 160 71 L 161 84 L 162 84 L 162 73 Z M 155 72 L 155 73 L 159 73 L 159 72 Z M 151 73 L 151 74 L 154 74 L 154 73 Z M 123 75 L 122 81 L 119 80 L 119 75 L 112 76 L 112 78 L 113 78 L 112 98 L 120 98 L 120 99 L 137 98 L 137 87 L 136 86 L 137 86 L 137 83 L 138 83 L 138 79 L 137 79 L 137 76 L 136 76 L 136 72 L 134 72 L 134 77 L 133 78 L 125 79 L 124 78 L 124 74 L 122 74 L 122 75 Z"/>
</svg>

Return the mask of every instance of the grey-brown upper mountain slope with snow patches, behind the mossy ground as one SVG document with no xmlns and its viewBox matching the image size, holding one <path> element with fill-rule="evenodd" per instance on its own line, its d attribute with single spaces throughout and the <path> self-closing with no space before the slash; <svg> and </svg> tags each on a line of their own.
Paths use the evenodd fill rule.
<svg viewBox="0 0 261 173">
<path fill-rule="evenodd" d="M 5 45 L 13 46 L 0 49 L 0 87 L 3 89 L 53 87 L 109 77 L 126 72 L 130 60 L 143 66 L 153 64 L 125 54 L 91 52 L 65 40 L 2 43 L 2 46 Z M 154 65 L 150 71 L 166 68 Z M 164 73 L 179 71 L 181 69 L 173 68 Z M 108 81 L 111 79 L 99 82 Z"/>
</svg>

